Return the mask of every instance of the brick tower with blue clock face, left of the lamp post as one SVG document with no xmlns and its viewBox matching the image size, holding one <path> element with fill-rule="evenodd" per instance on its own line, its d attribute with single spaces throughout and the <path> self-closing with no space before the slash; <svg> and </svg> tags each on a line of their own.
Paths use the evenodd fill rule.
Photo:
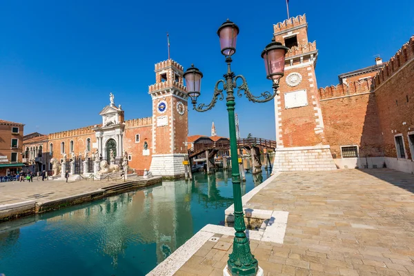
<svg viewBox="0 0 414 276">
<path fill-rule="evenodd" d="M 152 161 L 150 171 L 163 177 L 184 176 L 188 157 L 188 108 L 183 66 L 172 59 L 155 64 L 152 97 Z"/>
</svg>

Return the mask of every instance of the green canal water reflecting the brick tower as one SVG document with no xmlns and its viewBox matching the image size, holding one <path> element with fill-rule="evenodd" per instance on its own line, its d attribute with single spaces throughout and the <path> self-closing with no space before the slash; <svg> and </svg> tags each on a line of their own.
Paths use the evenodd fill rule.
<svg viewBox="0 0 414 276">
<path fill-rule="evenodd" d="M 242 194 L 268 177 L 246 174 Z M 108 197 L 0 224 L 0 273 L 145 275 L 233 204 L 230 172 Z"/>
</svg>

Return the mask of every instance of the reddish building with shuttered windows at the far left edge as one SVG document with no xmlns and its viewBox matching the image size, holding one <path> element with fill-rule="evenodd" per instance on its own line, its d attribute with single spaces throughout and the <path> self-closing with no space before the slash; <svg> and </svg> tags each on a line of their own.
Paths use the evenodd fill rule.
<svg viewBox="0 0 414 276">
<path fill-rule="evenodd" d="M 16 175 L 22 168 L 24 125 L 0 119 L 0 176 Z"/>
</svg>

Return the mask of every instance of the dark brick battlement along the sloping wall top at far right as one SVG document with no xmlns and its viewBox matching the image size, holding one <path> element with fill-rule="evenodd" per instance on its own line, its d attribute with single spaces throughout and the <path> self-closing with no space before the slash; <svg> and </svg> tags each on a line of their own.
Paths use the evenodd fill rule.
<svg viewBox="0 0 414 276">
<path fill-rule="evenodd" d="M 402 48 L 398 50 L 393 57 L 391 57 L 390 61 L 386 63 L 384 68 L 380 70 L 380 72 L 375 75 L 373 79 L 373 85 L 375 88 L 384 83 L 387 79 L 389 79 L 392 75 L 394 75 L 397 70 L 402 68 L 404 64 L 414 58 L 414 35 L 408 40 L 408 42 L 404 43 Z"/>
</svg>

